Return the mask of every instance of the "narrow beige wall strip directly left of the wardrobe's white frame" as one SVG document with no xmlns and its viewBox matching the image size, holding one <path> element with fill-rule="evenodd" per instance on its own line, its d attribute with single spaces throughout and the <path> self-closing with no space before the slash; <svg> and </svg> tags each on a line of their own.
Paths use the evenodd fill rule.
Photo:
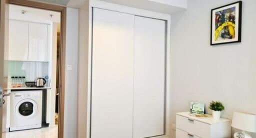
<svg viewBox="0 0 256 138">
<path fill-rule="evenodd" d="M 86 137 L 89 1 L 79 8 L 77 137 Z"/>
</svg>

